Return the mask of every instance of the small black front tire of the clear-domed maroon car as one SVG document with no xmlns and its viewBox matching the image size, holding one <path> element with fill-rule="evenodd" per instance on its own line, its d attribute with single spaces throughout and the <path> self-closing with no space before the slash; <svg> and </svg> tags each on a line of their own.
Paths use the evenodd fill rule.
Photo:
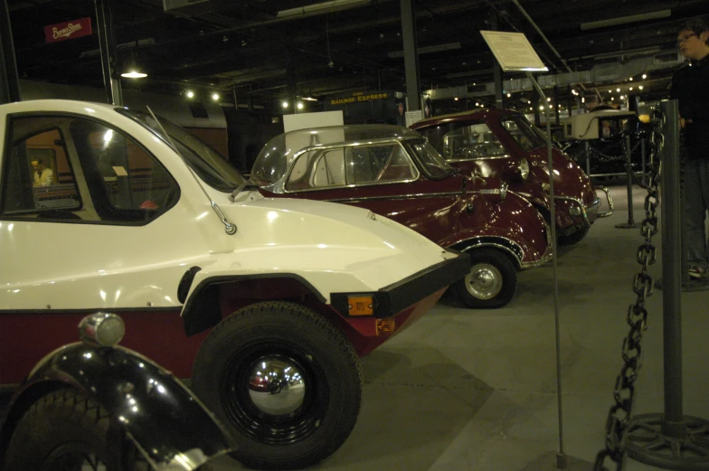
<svg viewBox="0 0 709 471">
<path fill-rule="evenodd" d="M 517 269 L 506 253 L 490 248 L 468 250 L 470 255 L 470 273 L 459 279 L 453 289 L 464 306 L 472 309 L 493 309 L 506 306 L 517 290 Z M 501 283 L 499 291 L 490 297 L 477 295 L 480 289 L 475 288 L 475 273 L 485 270 L 493 278 L 493 283 Z"/>
</svg>

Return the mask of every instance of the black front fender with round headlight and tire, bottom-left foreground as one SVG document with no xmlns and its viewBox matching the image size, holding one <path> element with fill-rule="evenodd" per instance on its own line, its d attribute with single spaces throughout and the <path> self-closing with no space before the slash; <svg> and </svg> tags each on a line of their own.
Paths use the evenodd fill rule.
<svg viewBox="0 0 709 471">
<path fill-rule="evenodd" d="M 48 353 L 27 372 L 0 415 L 0 469 L 189 471 L 234 451 L 192 391 L 118 346 L 124 333 L 115 314 L 87 316 L 80 343 Z"/>
</svg>

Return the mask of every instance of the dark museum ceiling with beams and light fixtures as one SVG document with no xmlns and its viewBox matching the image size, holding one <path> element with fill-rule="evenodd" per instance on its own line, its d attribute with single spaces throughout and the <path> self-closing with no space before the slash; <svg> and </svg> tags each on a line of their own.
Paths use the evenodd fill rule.
<svg viewBox="0 0 709 471">
<path fill-rule="evenodd" d="M 6 0 L 21 79 L 102 85 L 93 0 Z M 706 0 L 418 0 L 414 2 L 421 90 L 436 98 L 494 97 L 493 57 L 479 30 L 525 33 L 562 99 L 664 96 L 680 63 L 676 28 L 709 15 Z M 222 100 L 272 106 L 405 88 L 400 0 L 105 0 L 116 67 L 136 61 L 146 79 L 124 88 L 218 91 Z M 328 7 L 325 7 L 328 6 Z M 47 42 L 45 27 L 91 17 L 94 34 Z M 292 74 L 288 74 L 292 71 Z M 642 76 L 645 74 L 646 78 Z M 532 93 L 503 75 L 507 104 Z M 630 80 L 632 78 L 632 80 Z M 511 80 L 511 81 L 509 81 Z M 620 89 L 620 91 L 616 91 Z M 549 93 L 553 93 L 549 89 Z M 576 95 L 576 94 L 579 95 Z M 604 95 L 607 94 L 607 95 Z M 616 98 L 616 96 L 618 98 Z M 458 100 L 456 100 L 458 101 Z"/>
</svg>

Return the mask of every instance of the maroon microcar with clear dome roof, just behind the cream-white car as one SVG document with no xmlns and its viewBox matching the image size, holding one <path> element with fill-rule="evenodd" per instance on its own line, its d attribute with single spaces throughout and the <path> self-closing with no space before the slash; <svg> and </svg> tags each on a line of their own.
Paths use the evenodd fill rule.
<svg viewBox="0 0 709 471">
<path fill-rule="evenodd" d="M 290 131 L 261 149 L 251 182 L 267 196 L 360 206 L 467 252 L 472 268 L 454 290 L 468 307 L 505 306 L 515 295 L 517 270 L 539 267 L 552 255 L 534 206 L 499 181 L 459 174 L 406 127 Z"/>
</svg>

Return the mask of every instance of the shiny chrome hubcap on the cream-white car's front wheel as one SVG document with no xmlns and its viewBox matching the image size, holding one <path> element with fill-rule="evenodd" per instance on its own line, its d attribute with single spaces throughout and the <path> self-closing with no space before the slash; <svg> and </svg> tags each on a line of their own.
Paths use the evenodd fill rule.
<svg viewBox="0 0 709 471">
<path fill-rule="evenodd" d="M 249 397 L 262 412 L 287 415 L 303 404 L 306 382 L 298 364 L 282 356 L 263 356 L 249 368 Z"/>
</svg>

